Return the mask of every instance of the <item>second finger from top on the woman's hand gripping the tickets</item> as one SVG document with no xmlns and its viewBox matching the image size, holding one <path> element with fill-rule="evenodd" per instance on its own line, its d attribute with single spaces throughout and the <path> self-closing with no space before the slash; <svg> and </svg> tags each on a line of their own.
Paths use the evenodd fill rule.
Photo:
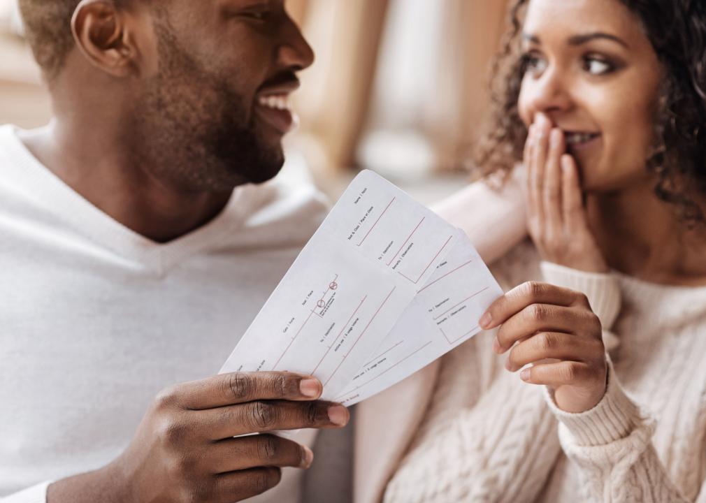
<svg viewBox="0 0 706 503">
<path fill-rule="evenodd" d="M 515 342 L 539 332 L 600 333 L 600 322 L 597 316 L 588 310 L 576 310 L 554 304 L 528 305 L 498 329 L 499 352 L 504 353 Z"/>
</svg>

